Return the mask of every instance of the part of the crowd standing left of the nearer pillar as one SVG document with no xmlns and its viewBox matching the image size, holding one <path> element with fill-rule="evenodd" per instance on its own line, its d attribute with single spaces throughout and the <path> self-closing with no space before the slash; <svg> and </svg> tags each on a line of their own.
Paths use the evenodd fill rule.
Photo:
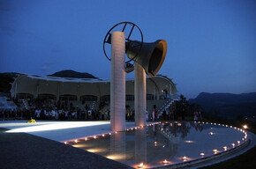
<svg viewBox="0 0 256 169">
<path fill-rule="evenodd" d="M 83 105 L 84 108 L 73 106 L 72 102 L 54 101 L 53 99 L 20 99 L 15 100 L 17 109 L 0 110 L 0 120 L 109 120 L 109 110 L 96 110 Z"/>
</svg>

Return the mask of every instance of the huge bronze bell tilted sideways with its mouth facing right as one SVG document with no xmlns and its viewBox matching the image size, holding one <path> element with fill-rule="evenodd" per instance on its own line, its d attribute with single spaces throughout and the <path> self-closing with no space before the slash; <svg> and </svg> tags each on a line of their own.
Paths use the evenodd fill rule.
<svg viewBox="0 0 256 169">
<path fill-rule="evenodd" d="M 139 63 L 149 77 L 154 77 L 161 69 L 167 52 L 166 40 L 156 40 L 152 43 L 132 40 L 125 43 L 129 59 Z"/>
</svg>

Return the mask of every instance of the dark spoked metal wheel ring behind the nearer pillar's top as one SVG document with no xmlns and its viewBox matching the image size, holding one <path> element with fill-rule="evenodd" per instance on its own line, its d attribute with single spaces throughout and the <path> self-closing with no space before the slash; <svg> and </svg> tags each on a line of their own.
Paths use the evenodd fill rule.
<svg viewBox="0 0 256 169">
<path fill-rule="evenodd" d="M 134 57 L 132 57 L 132 59 L 130 59 L 129 61 L 126 61 L 125 63 L 131 62 L 132 60 L 134 60 L 134 58 L 139 54 L 139 52 L 140 52 L 140 50 L 141 50 L 141 48 L 142 48 L 142 44 L 143 44 L 143 34 L 142 34 L 141 30 L 139 29 L 139 26 L 133 24 L 132 22 L 120 22 L 120 23 L 118 23 L 117 25 L 115 25 L 115 26 L 113 26 L 113 27 L 111 27 L 111 28 L 109 29 L 109 32 L 106 34 L 106 36 L 105 36 L 105 38 L 104 38 L 104 41 L 103 41 L 103 51 L 104 51 L 104 55 L 107 57 L 107 59 L 108 59 L 109 61 L 111 61 L 111 58 L 109 58 L 109 56 L 108 56 L 107 53 L 106 53 L 105 44 L 106 44 L 106 43 L 111 43 L 111 31 L 112 31 L 115 27 L 117 27 L 117 26 L 124 25 L 124 27 L 123 27 L 123 29 L 122 29 L 122 32 L 124 32 L 124 30 L 125 30 L 127 24 L 128 24 L 128 25 L 131 25 L 131 26 L 132 26 L 132 29 L 131 29 L 131 31 L 130 31 L 128 37 L 125 38 L 126 43 L 128 43 L 128 44 L 131 43 L 132 40 L 130 40 L 130 38 L 131 38 L 132 31 L 133 31 L 134 27 L 136 27 L 136 28 L 139 30 L 140 39 L 141 39 L 141 40 L 140 40 L 140 42 L 138 43 L 138 45 L 136 45 L 136 46 L 134 46 L 134 47 L 131 47 L 131 46 L 128 45 L 128 48 L 138 48 L 138 47 L 139 47 L 139 51 L 138 51 L 138 53 L 137 53 L 136 55 L 134 55 Z M 126 50 L 127 50 L 128 48 L 125 47 L 125 52 L 126 52 Z"/>
</svg>

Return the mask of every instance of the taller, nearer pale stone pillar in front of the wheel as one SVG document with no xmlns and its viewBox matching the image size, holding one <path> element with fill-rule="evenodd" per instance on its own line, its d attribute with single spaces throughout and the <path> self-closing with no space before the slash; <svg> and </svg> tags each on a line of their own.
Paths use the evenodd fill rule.
<svg viewBox="0 0 256 169">
<path fill-rule="evenodd" d="M 110 124 L 113 131 L 125 130 L 125 34 L 111 34 Z"/>
</svg>

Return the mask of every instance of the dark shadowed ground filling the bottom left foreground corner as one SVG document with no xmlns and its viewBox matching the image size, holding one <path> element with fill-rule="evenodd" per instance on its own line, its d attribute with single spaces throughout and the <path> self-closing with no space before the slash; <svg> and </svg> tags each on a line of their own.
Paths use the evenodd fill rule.
<svg viewBox="0 0 256 169">
<path fill-rule="evenodd" d="M 4 131 L 0 129 L 0 169 L 131 168 L 64 143 Z"/>
</svg>

